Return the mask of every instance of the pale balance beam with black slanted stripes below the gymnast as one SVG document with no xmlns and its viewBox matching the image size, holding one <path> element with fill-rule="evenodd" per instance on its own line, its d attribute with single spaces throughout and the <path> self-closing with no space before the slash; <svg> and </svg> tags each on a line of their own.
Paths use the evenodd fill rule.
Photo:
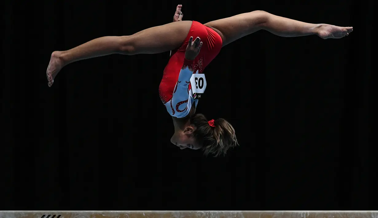
<svg viewBox="0 0 378 218">
<path fill-rule="evenodd" d="M 0 211 L 0 218 L 378 218 L 378 211 Z"/>
</svg>

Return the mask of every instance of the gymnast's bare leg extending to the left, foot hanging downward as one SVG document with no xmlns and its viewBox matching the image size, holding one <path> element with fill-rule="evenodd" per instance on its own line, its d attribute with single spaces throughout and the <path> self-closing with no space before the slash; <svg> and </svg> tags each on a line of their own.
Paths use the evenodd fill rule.
<svg viewBox="0 0 378 218">
<path fill-rule="evenodd" d="M 51 54 L 46 76 L 51 87 L 54 78 L 67 64 L 108 54 L 156 54 L 181 46 L 192 21 L 168 23 L 137 32 L 131 36 L 105 36 L 93 39 L 67 51 Z"/>
</svg>

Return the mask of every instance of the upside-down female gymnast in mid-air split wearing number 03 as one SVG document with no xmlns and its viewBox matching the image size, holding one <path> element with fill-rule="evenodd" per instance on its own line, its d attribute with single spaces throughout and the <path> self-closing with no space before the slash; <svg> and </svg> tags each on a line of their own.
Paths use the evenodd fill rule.
<svg viewBox="0 0 378 218">
<path fill-rule="evenodd" d="M 203 114 L 195 114 L 195 108 L 198 93 L 203 93 L 206 88 L 203 70 L 223 46 L 260 29 L 283 37 L 316 34 L 322 39 L 339 39 L 353 31 L 352 27 L 304 23 L 265 11 L 252 11 L 201 24 L 182 21 L 181 8 L 182 5 L 177 6 L 172 23 L 131 36 L 105 36 L 67 51 L 54 51 L 46 71 L 48 86 L 53 85 L 54 78 L 65 65 L 78 60 L 108 54 L 171 51 L 159 86 L 161 101 L 172 116 L 175 128 L 170 141 L 181 149 L 203 148 L 206 155 L 218 156 L 238 145 L 235 130 L 225 119 L 208 121 Z"/>
</svg>

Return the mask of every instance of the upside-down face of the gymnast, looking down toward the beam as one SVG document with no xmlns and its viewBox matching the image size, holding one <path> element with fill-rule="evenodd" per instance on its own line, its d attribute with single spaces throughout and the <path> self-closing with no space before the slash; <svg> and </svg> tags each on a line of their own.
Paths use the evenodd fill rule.
<svg viewBox="0 0 378 218">
<path fill-rule="evenodd" d="M 180 149 L 191 148 L 194 150 L 200 149 L 201 147 L 195 143 L 195 139 L 193 137 L 193 131 L 195 127 L 185 127 L 184 130 L 176 130 L 173 134 L 170 142 L 180 147 Z"/>
</svg>

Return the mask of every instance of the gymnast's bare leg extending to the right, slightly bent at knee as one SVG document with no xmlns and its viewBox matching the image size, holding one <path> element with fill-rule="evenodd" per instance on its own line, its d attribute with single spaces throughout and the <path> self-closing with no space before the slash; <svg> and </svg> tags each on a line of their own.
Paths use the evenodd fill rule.
<svg viewBox="0 0 378 218">
<path fill-rule="evenodd" d="M 340 27 L 328 24 L 304 23 L 279 17 L 265 11 L 252 11 L 233 17 L 205 23 L 222 37 L 223 46 L 243 36 L 265 29 L 277 36 L 296 37 L 316 34 L 323 39 L 342 38 L 353 31 L 352 27 Z"/>
</svg>

